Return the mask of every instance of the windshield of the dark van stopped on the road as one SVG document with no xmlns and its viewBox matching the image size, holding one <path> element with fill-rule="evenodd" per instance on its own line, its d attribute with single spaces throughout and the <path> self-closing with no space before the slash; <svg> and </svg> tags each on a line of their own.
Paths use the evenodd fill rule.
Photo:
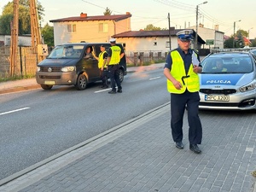
<svg viewBox="0 0 256 192">
<path fill-rule="evenodd" d="M 55 49 L 51 51 L 49 59 L 78 59 L 83 53 L 84 45 L 57 45 Z"/>
</svg>

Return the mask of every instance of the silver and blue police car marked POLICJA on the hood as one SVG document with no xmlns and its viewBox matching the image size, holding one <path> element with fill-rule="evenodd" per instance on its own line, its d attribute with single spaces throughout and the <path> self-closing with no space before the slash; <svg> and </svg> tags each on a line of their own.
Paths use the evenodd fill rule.
<svg viewBox="0 0 256 192">
<path fill-rule="evenodd" d="M 207 55 L 200 75 L 201 109 L 256 109 L 255 57 L 250 52 Z"/>
</svg>

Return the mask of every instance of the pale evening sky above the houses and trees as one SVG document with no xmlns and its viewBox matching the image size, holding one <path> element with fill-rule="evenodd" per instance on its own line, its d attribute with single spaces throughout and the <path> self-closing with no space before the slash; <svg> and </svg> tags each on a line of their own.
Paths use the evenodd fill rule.
<svg viewBox="0 0 256 192">
<path fill-rule="evenodd" d="M 11 0 L 0 1 L 0 15 L 3 6 Z M 38 0 L 44 7 L 44 20 L 41 25 L 52 23 L 49 20 L 79 16 L 103 15 L 107 9 L 112 15 L 131 13 L 131 31 L 138 31 L 152 24 L 160 28 L 168 28 L 170 24 L 176 29 L 196 25 L 196 7 L 198 7 L 198 23 L 206 28 L 214 29 L 230 36 L 239 29 L 249 32 L 249 38 L 256 38 L 256 1 L 255 0 Z M 207 2 L 207 3 L 204 3 Z M 241 21 L 239 21 L 241 20 Z"/>
</svg>

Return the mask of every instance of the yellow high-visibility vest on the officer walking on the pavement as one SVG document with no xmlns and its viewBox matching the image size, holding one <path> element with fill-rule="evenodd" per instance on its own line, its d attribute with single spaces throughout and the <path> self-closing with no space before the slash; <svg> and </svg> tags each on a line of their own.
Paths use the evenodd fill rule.
<svg viewBox="0 0 256 192">
<path fill-rule="evenodd" d="M 182 94 L 183 92 L 185 92 L 186 89 L 188 89 L 189 92 L 198 91 L 200 89 L 200 82 L 198 74 L 193 72 L 193 65 L 190 65 L 189 72 L 188 74 L 186 74 L 183 58 L 181 57 L 181 55 L 179 55 L 178 51 L 173 50 L 171 52 L 171 56 L 172 69 L 170 73 L 172 74 L 173 78 L 175 78 L 182 84 L 183 87 L 180 90 L 177 90 L 172 82 L 167 79 L 167 90 L 170 93 L 177 94 Z"/>
</svg>

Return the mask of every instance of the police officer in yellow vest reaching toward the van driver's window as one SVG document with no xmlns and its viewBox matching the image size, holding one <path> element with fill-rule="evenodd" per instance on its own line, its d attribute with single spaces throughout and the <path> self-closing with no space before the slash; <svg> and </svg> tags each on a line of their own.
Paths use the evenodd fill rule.
<svg viewBox="0 0 256 192">
<path fill-rule="evenodd" d="M 102 79 L 102 85 L 101 88 L 108 88 L 108 76 L 107 76 L 107 66 L 106 66 L 106 61 L 108 58 L 108 53 L 106 51 L 105 45 L 101 45 L 101 53 L 97 57 L 94 53 L 92 52 L 92 55 L 96 60 L 98 61 L 98 67 L 100 70 L 100 76 Z"/>
</svg>

